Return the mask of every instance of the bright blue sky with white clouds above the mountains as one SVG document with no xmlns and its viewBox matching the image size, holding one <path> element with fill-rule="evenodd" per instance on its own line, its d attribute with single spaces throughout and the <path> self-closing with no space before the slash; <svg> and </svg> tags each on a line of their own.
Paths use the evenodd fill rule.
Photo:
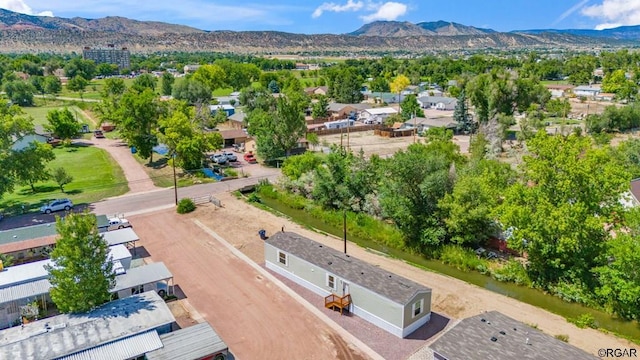
<svg viewBox="0 0 640 360">
<path fill-rule="evenodd" d="M 204 30 L 347 33 L 375 20 L 454 21 L 498 31 L 640 24 L 640 0 L 0 0 L 33 15 L 124 16 Z"/>
</svg>

